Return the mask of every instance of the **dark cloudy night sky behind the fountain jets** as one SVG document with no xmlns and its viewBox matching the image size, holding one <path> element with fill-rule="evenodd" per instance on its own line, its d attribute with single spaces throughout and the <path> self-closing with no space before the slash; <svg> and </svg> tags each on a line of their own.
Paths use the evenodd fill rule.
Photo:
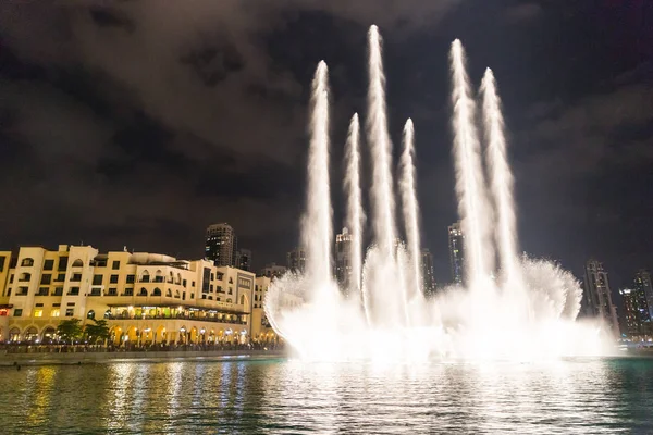
<svg viewBox="0 0 653 435">
<path fill-rule="evenodd" d="M 447 51 L 491 66 L 522 250 L 613 287 L 653 269 L 653 1 L 0 2 L 0 249 L 123 246 L 197 259 L 231 223 L 285 263 L 305 201 L 309 86 L 332 86 L 332 173 L 365 116 L 366 36 L 385 40 L 390 128 L 417 133 L 422 244 L 451 279 L 457 220 Z M 255 7 L 256 4 L 256 7 Z M 342 226 L 334 184 L 335 226 Z"/>
</svg>

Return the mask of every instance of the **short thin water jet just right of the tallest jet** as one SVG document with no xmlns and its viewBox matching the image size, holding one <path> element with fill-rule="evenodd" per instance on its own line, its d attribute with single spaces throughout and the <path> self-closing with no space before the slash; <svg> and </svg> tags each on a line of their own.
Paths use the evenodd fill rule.
<svg viewBox="0 0 653 435">
<path fill-rule="evenodd" d="M 410 261 L 410 274 L 412 295 L 421 291 L 421 268 L 419 248 L 419 206 L 417 204 L 415 183 L 415 127 L 412 120 L 408 119 L 404 126 L 404 151 L 399 160 L 399 194 L 402 197 L 402 210 L 404 212 L 404 225 L 406 227 L 406 241 L 408 244 L 408 256 Z M 410 293 L 409 293 L 410 295 Z"/>
</svg>

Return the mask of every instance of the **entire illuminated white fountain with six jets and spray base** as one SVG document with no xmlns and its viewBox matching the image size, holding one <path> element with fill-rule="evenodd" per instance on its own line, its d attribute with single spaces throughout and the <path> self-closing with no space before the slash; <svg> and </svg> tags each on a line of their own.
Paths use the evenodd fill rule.
<svg viewBox="0 0 653 435">
<path fill-rule="evenodd" d="M 599 323 L 576 321 L 582 295 L 577 279 L 555 263 L 517 253 L 513 175 L 496 83 L 486 70 L 481 85 L 481 140 L 459 40 L 453 42 L 449 60 L 453 154 L 467 285 L 424 298 L 414 125 L 408 120 L 404 128 L 395 186 L 381 46 L 378 28 L 372 26 L 366 119 L 372 163 L 368 192 L 372 243 L 364 253 L 360 125 L 355 114 L 344 178 L 352 278 L 349 288 L 338 288 L 331 254 L 328 69 L 320 62 L 312 84 L 307 210 L 301 223 L 306 271 L 289 272 L 270 286 L 264 309 L 274 331 L 300 358 L 312 360 L 533 360 L 606 352 L 606 330 Z M 395 189 L 404 228 L 396 223 Z M 406 244 L 398 241 L 401 236 Z"/>
</svg>

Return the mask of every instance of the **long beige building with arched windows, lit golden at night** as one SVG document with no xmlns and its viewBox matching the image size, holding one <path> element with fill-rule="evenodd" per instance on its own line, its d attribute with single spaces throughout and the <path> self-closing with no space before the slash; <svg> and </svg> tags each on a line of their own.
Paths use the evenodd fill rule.
<svg viewBox="0 0 653 435">
<path fill-rule="evenodd" d="M 252 313 L 263 286 L 209 260 L 66 245 L 0 251 L 0 340 L 48 341 L 77 318 L 106 319 L 115 344 L 245 343 L 261 334 Z"/>
</svg>

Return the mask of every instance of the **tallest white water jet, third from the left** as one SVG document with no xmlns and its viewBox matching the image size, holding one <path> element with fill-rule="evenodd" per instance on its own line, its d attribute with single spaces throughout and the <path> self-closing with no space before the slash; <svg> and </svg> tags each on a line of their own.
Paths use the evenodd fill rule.
<svg viewBox="0 0 653 435">
<path fill-rule="evenodd" d="M 385 75 L 381 35 L 374 25 L 369 34 L 369 77 L 367 130 L 372 154 L 372 228 L 382 252 L 393 256 L 395 244 L 394 198 L 392 196 L 392 144 L 385 114 Z"/>
</svg>

